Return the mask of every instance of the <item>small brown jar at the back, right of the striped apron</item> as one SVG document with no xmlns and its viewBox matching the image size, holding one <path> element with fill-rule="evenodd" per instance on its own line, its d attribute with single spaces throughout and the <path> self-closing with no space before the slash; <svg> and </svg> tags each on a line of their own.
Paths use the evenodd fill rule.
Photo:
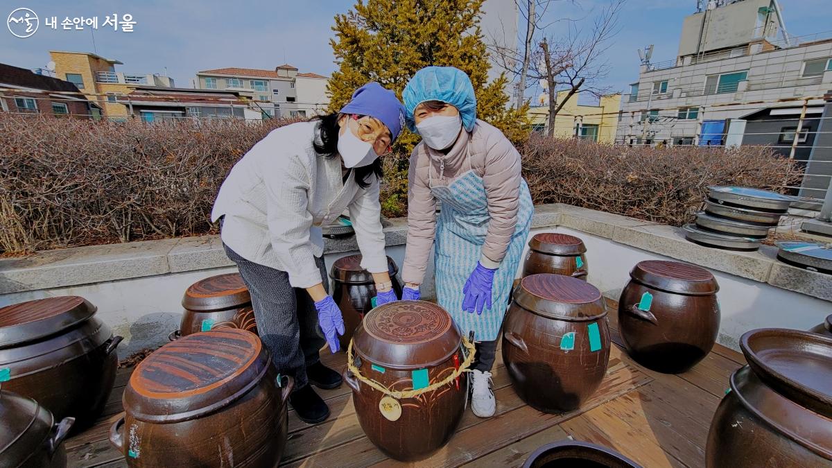
<svg viewBox="0 0 832 468">
<path fill-rule="evenodd" d="M 587 279 L 587 247 L 576 236 L 557 232 L 541 232 L 528 241 L 528 255 L 522 276 L 554 273 Z"/>
</svg>

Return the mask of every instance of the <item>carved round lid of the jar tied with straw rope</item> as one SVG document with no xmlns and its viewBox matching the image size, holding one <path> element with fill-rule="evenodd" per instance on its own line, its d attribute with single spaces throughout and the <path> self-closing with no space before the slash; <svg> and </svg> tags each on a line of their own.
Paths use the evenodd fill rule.
<svg viewBox="0 0 832 468">
<path fill-rule="evenodd" d="M 446 361 L 462 336 L 442 307 L 426 301 L 396 301 L 364 316 L 353 336 L 355 352 L 373 364 L 422 369 Z"/>
</svg>

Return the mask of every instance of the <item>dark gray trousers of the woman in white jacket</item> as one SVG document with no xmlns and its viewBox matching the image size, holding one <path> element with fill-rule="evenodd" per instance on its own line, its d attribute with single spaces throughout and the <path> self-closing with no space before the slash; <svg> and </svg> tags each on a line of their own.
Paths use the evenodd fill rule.
<svg viewBox="0 0 832 468">
<path fill-rule="evenodd" d="M 251 294 L 257 333 L 271 354 L 277 371 L 295 379 L 295 390 L 307 385 L 306 366 L 320 360 L 326 340 L 318 326 L 318 311 L 305 289 L 289 284 L 289 273 L 263 266 L 225 247 L 225 254 L 237 264 Z M 315 257 L 320 279 L 329 291 L 324 259 Z"/>
</svg>

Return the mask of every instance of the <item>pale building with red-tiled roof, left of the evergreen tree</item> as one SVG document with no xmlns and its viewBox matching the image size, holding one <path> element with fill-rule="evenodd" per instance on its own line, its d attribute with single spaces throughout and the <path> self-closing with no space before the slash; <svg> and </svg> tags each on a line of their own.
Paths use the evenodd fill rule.
<svg viewBox="0 0 832 468">
<path fill-rule="evenodd" d="M 325 112 L 327 77 L 299 73 L 284 64 L 274 70 L 226 67 L 196 73 L 195 87 L 239 93 L 250 107 L 270 117 L 311 117 Z"/>
</svg>

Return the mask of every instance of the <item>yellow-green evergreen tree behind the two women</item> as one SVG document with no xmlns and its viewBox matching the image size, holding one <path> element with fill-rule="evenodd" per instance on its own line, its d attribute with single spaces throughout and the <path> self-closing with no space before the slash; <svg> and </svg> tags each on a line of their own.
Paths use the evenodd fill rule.
<svg viewBox="0 0 832 468">
<path fill-rule="evenodd" d="M 503 75 L 488 83 L 488 52 L 479 27 L 484 0 L 359 0 L 335 17 L 330 39 L 339 70 L 329 80 L 329 108 L 337 111 L 352 92 L 375 81 L 401 97 L 410 77 L 428 65 L 453 66 L 471 77 L 477 117 L 513 142 L 528 136 L 526 107 L 506 107 Z M 418 137 L 403 132 L 397 149 L 408 152 Z"/>
</svg>

